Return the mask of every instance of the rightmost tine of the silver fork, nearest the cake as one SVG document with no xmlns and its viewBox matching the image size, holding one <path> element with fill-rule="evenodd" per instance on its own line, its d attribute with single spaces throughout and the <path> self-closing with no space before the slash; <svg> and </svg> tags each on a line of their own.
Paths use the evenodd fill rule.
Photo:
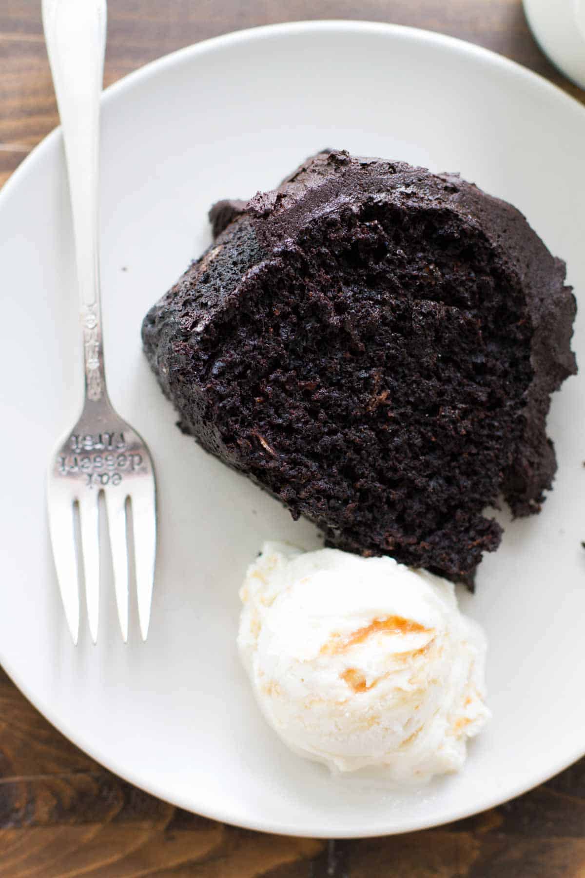
<svg viewBox="0 0 585 878">
<path fill-rule="evenodd" d="M 146 640 L 150 623 L 156 558 L 154 486 L 141 486 L 137 491 L 132 490 L 131 502 L 140 632 L 142 639 Z"/>
</svg>

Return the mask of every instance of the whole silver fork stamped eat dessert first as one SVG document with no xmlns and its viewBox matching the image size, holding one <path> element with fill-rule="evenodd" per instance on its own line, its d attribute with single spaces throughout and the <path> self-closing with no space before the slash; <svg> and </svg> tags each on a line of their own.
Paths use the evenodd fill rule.
<svg viewBox="0 0 585 878">
<path fill-rule="evenodd" d="M 82 571 L 85 582 L 89 630 L 94 643 L 97 639 L 100 539 L 104 536 L 99 528 L 99 498 L 103 496 L 105 500 L 118 618 L 125 640 L 130 569 L 127 537 L 131 529 L 144 640 L 150 620 L 156 551 L 152 458 L 136 430 L 122 421 L 111 406 L 103 371 L 97 191 L 105 25 L 105 0 L 43 0 L 46 48 L 68 166 L 85 372 L 82 415 L 57 444 L 47 481 L 54 563 L 75 644 L 80 616 L 78 571 Z M 76 531 L 81 546 L 77 544 Z"/>
</svg>

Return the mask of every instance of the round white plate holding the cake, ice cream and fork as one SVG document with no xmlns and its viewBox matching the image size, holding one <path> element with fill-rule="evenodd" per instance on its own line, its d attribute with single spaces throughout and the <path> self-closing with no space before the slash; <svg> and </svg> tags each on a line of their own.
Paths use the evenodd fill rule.
<svg viewBox="0 0 585 878">
<path fill-rule="evenodd" d="M 489 636 L 493 722 L 465 770 L 419 794 L 335 781 L 287 752 L 235 649 L 237 589 L 265 537 L 315 530 L 175 428 L 140 350 L 140 321 L 210 239 L 224 197 L 275 185 L 319 148 L 460 170 L 509 199 L 585 287 L 585 110 L 483 49 L 389 25 L 321 22 L 235 33 L 169 55 L 103 99 L 102 269 L 111 397 L 153 450 L 160 554 L 153 621 L 130 643 L 104 591 L 98 644 L 74 648 L 46 536 L 44 477 L 80 398 L 61 138 L 0 196 L 0 661 L 103 765 L 183 808 L 265 831 L 367 836 L 463 817 L 585 751 L 585 387 L 549 418 L 559 474 L 541 515 L 508 523 L 464 608 Z M 574 347 L 583 352 L 582 318 Z M 585 363 L 585 356 L 581 356 Z M 585 371 L 583 372 L 585 377 Z"/>
</svg>

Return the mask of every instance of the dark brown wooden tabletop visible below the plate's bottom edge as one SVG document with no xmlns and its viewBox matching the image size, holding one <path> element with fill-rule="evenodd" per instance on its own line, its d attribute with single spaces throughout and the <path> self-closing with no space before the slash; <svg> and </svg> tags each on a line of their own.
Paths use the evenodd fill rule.
<svg viewBox="0 0 585 878">
<path fill-rule="evenodd" d="M 132 787 L 63 738 L 1 671 L 0 716 L 0 878 L 585 874 L 585 759 L 456 824 L 327 845 L 222 826 Z"/>
</svg>

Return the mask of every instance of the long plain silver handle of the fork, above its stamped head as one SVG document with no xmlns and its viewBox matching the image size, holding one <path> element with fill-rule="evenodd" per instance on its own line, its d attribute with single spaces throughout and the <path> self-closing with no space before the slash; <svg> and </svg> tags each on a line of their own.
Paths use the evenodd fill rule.
<svg viewBox="0 0 585 878">
<path fill-rule="evenodd" d="M 99 99 L 105 0 L 42 0 L 46 50 L 65 143 L 81 299 L 86 399 L 106 399 L 99 290 Z"/>
</svg>

